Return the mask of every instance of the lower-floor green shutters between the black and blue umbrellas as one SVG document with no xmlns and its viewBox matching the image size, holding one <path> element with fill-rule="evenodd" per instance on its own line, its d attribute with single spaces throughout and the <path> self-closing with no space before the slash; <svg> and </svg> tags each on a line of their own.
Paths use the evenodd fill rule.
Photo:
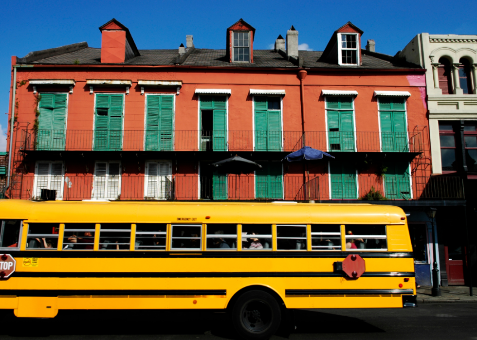
<svg viewBox="0 0 477 340">
<path fill-rule="evenodd" d="M 283 171 L 279 162 L 262 163 L 255 172 L 256 198 L 283 198 Z"/>
</svg>

